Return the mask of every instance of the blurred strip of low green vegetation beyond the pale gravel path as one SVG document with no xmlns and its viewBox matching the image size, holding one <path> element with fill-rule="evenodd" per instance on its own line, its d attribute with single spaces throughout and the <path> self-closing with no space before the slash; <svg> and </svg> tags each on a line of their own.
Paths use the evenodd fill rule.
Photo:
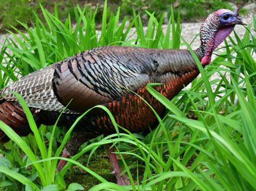
<svg viewBox="0 0 256 191">
<path fill-rule="evenodd" d="M 178 14 L 178 10 L 180 10 L 181 18 L 183 21 L 196 21 L 201 20 L 210 12 L 213 12 L 213 10 L 217 10 L 223 7 L 226 9 L 233 9 L 232 4 L 243 6 L 246 4 L 246 2 L 248 2 L 248 0 L 112 0 L 109 1 L 108 9 L 115 11 L 118 7 L 121 7 L 122 12 L 120 17 L 123 18 L 125 15 L 132 17 L 133 8 L 136 11 L 148 10 L 149 12 L 156 12 L 157 15 L 162 12 L 170 14 L 171 4 L 173 4 L 175 7 L 176 16 Z M 41 12 L 39 6 L 40 3 L 50 12 L 54 12 L 54 6 L 57 4 L 60 10 L 59 18 L 62 21 L 68 17 L 68 14 L 72 20 L 75 20 L 75 12 L 73 7 L 76 6 L 76 4 L 78 4 L 80 7 L 91 6 L 93 8 L 99 5 L 99 10 L 96 15 L 96 23 L 101 23 L 104 0 L 0 0 L 0 32 L 6 33 L 5 29 L 12 29 L 10 25 L 15 26 L 16 28 L 22 28 L 17 20 L 26 22 L 31 26 L 31 24 L 35 22 L 35 14 L 38 15 L 39 18 L 43 19 L 43 13 Z M 144 15 L 142 19 L 146 21 L 148 19 L 147 14 L 142 12 L 142 15 Z M 110 17 L 110 14 L 108 14 L 107 17 Z"/>
</svg>

